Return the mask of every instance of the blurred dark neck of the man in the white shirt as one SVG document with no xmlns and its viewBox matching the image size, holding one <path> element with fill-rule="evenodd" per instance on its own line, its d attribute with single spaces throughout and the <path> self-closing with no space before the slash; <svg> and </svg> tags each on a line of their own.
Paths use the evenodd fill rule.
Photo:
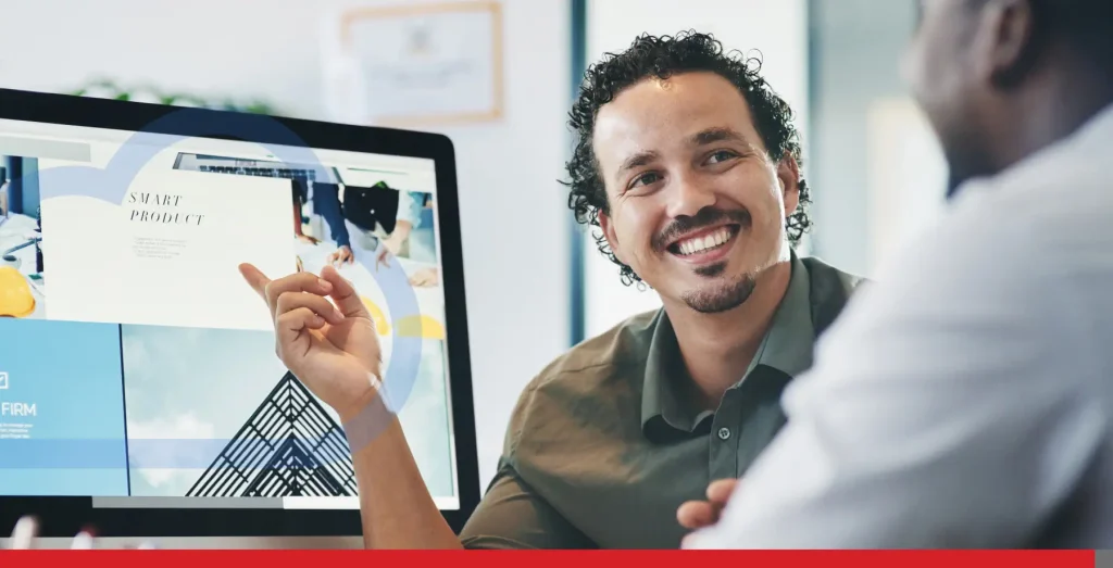
<svg viewBox="0 0 1113 568">
<path fill-rule="evenodd" d="M 1113 76 L 1085 66 L 1050 66 L 1018 94 L 998 137 L 994 161 L 1002 171 L 1070 137 L 1113 103 Z"/>
</svg>

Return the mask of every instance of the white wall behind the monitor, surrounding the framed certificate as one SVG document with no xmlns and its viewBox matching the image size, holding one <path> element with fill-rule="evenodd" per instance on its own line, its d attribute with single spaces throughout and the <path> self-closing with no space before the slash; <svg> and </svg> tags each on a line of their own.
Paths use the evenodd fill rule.
<svg viewBox="0 0 1113 568">
<path fill-rule="evenodd" d="M 392 3 L 404 3 L 404 0 Z M 69 91 L 96 77 L 262 97 L 324 118 L 318 22 L 359 0 L 4 0 L 0 87 Z M 569 7 L 505 0 L 505 116 L 444 130 L 456 146 L 481 481 L 513 403 L 567 348 Z"/>
</svg>

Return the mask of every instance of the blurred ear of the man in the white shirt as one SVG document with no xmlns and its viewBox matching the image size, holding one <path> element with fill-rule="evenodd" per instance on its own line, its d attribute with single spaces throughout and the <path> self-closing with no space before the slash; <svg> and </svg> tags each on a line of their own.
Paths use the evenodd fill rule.
<svg viewBox="0 0 1113 568">
<path fill-rule="evenodd" d="M 1032 69 L 1036 52 L 1031 0 L 992 0 L 982 9 L 973 41 L 975 70 L 1008 87 Z"/>
</svg>

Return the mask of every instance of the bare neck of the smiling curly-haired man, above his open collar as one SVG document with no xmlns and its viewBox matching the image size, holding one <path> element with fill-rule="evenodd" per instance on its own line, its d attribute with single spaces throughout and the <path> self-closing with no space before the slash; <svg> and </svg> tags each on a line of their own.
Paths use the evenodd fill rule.
<svg viewBox="0 0 1113 568">
<path fill-rule="evenodd" d="M 779 260 L 758 275 L 754 291 L 741 306 L 719 313 L 700 313 L 683 302 L 666 302 L 680 356 L 701 406 L 716 408 L 727 389 L 741 380 L 791 276 L 791 258 Z"/>
</svg>

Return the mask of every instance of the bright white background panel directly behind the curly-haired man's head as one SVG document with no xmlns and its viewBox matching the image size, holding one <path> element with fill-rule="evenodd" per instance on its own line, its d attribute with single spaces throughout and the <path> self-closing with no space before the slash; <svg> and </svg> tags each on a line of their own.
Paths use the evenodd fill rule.
<svg viewBox="0 0 1113 568">
<path fill-rule="evenodd" d="M 641 33 L 709 32 L 727 50 L 758 54 L 762 76 L 796 111 L 807 147 L 808 21 L 805 0 L 589 0 L 588 62 L 619 52 Z M 807 152 L 807 148 L 805 148 Z M 805 173 L 807 173 L 805 156 Z M 585 236 L 585 335 L 592 337 L 640 311 L 660 307 L 652 290 L 622 286 L 618 267 Z"/>
</svg>

